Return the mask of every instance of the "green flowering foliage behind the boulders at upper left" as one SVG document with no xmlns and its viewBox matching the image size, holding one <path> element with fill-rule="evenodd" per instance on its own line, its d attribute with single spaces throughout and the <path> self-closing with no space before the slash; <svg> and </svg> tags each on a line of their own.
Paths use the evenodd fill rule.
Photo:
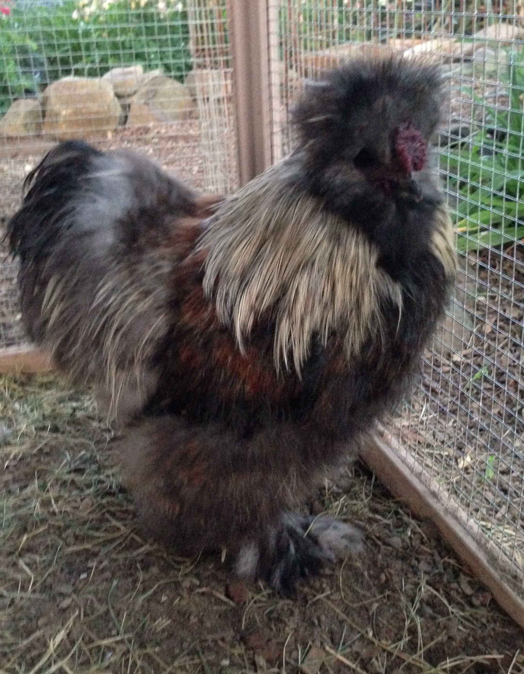
<svg viewBox="0 0 524 674">
<path fill-rule="evenodd" d="M 191 70 L 185 3 L 140 4 L 117 0 L 87 18 L 73 0 L 13 7 L 0 20 L 0 113 L 65 75 L 98 77 L 117 65 L 141 63 L 183 80 Z"/>
</svg>

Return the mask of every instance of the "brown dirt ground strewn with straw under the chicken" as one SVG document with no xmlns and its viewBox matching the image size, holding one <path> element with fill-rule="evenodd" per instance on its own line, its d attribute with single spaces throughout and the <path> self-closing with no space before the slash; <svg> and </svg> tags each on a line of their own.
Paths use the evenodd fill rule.
<svg viewBox="0 0 524 674">
<path fill-rule="evenodd" d="M 141 537 L 85 392 L 3 377 L 0 419 L 1 674 L 524 671 L 521 629 L 359 464 L 304 509 L 364 555 L 282 599 Z"/>
</svg>

